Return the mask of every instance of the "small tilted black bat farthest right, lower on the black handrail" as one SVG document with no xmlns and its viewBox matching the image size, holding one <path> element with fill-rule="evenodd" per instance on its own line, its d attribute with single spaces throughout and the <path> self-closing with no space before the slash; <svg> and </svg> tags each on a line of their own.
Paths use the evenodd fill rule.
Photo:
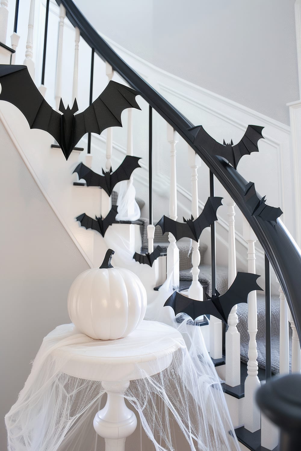
<svg viewBox="0 0 301 451">
<path fill-rule="evenodd" d="M 282 215 L 280 207 L 270 207 L 265 203 L 265 196 L 259 198 L 255 184 L 249 182 L 245 185 L 245 203 L 252 216 L 260 216 L 264 221 L 271 221 L 273 226 L 276 226 L 277 218 Z"/>
</svg>

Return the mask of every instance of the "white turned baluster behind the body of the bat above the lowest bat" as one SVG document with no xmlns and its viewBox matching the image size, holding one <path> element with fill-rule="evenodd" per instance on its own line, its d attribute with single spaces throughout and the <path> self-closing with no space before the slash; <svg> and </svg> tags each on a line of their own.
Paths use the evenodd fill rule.
<svg viewBox="0 0 301 451">
<path fill-rule="evenodd" d="M 188 146 L 188 165 L 191 169 L 191 214 L 196 219 L 199 216 L 199 194 L 198 194 L 198 168 L 201 166 L 201 159 L 194 150 Z M 192 241 L 192 282 L 188 290 L 188 296 L 193 299 L 203 300 L 203 287 L 199 283 L 199 240 Z"/>
</svg>

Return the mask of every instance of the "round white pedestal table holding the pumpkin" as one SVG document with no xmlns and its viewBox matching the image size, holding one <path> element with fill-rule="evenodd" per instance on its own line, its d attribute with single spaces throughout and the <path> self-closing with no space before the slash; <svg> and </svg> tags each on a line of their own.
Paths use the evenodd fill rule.
<svg viewBox="0 0 301 451">
<path fill-rule="evenodd" d="M 125 438 L 137 426 L 136 416 L 125 405 L 123 396 L 130 381 L 167 368 L 172 354 L 180 346 L 185 346 L 183 337 L 173 327 L 142 321 L 125 338 L 102 341 L 87 337 L 87 343 L 53 351 L 60 371 L 74 377 L 102 381 L 107 402 L 95 415 L 93 426 L 96 433 L 105 438 L 106 451 L 124 451 Z"/>
</svg>

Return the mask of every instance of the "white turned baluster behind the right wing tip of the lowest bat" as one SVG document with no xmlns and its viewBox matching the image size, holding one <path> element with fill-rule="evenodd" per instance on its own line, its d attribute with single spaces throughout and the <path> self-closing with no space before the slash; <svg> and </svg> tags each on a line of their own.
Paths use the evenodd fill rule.
<svg viewBox="0 0 301 451">
<path fill-rule="evenodd" d="M 256 274 L 255 242 L 257 238 L 245 218 L 243 218 L 243 235 L 248 244 L 248 272 Z M 252 433 L 260 429 L 260 409 L 255 401 L 255 392 L 260 387 L 257 362 L 257 331 L 257 295 L 256 291 L 251 291 L 248 296 L 248 333 L 250 339 L 247 365 L 248 375 L 245 379 L 244 423 L 245 429 Z"/>
</svg>

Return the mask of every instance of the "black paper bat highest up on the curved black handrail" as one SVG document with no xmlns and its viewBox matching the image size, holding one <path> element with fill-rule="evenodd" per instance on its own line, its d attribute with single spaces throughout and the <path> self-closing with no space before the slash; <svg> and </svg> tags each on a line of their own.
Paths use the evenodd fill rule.
<svg viewBox="0 0 301 451">
<path fill-rule="evenodd" d="M 259 152 L 258 140 L 263 138 L 261 132 L 264 127 L 258 125 L 248 125 L 244 136 L 238 144 L 233 146 L 233 142 L 227 144 L 218 143 L 205 130 L 202 125 L 192 127 L 190 132 L 194 135 L 194 144 L 204 147 L 213 155 L 219 155 L 225 158 L 236 169 L 238 161 L 243 155 L 250 155 L 251 152 Z"/>
</svg>

